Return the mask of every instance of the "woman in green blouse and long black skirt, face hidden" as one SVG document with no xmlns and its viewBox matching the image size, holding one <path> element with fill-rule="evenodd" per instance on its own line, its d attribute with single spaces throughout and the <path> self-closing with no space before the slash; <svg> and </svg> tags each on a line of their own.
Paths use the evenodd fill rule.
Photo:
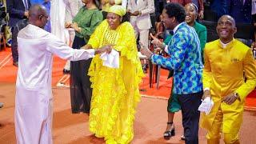
<svg viewBox="0 0 256 144">
<path fill-rule="evenodd" d="M 78 11 L 72 23 L 66 23 L 66 28 L 75 30 L 74 49 L 85 46 L 95 28 L 102 22 L 102 12 L 98 10 L 98 0 L 82 0 L 85 6 Z M 90 77 L 87 75 L 91 58 L 70 63 L 70 97 L 73 114 L 89 113 L 92 89 Z"/>
</svg>

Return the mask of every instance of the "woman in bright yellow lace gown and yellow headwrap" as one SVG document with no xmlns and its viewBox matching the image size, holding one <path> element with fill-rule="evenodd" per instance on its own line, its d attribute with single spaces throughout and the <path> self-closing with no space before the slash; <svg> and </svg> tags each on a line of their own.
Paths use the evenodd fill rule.
<svg viewBox="0 0 256 144">
<path fill-rule="evenodd" d="M 95 56 L 88 75 L 93 95 L 90 108 L 90 131 L 106 143 L 129 143 L 134 137 L 135 108 L 140 101 L 138 84 L 143 76 L 134 37 L 134 28 L 122 22 L 126 10 L 111 6 L 106 20 L 91 35 L 88 46 L 98 49 L 112 46 L 119 52 L 119 67 L 102 65 Z"/>
</svg>

